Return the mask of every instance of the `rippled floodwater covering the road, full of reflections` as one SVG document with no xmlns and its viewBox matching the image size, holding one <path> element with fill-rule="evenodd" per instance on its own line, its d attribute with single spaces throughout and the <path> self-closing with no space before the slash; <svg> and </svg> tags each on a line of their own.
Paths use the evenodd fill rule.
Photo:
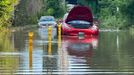
<svg viewBox="0 0 134 75">
<path fill-rule="evenodd" d="M 28 32 L 33 31 L 29 47 Z M 134 75 L 134 35 L 104 32 L 97 37 L 62 36 L 35 28 L 0 33 L 0 75 Z M 32 49 L 30 54 L 29 49 Z"/>
</svg>

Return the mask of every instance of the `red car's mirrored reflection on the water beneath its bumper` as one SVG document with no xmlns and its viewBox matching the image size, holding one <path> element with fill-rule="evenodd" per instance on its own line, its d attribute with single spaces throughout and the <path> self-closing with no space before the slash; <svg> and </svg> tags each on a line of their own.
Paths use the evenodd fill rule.
<svg viewBox="0 0 134 75">
<path fill-rule="evenodd" d="M 92 49 L 98 45 L 98 37 L 85 37 L 79 39 L 77 36 L 64 36 L 63 49 L 67 50 L 70 56 L 91 56 Z"/>
</svg>

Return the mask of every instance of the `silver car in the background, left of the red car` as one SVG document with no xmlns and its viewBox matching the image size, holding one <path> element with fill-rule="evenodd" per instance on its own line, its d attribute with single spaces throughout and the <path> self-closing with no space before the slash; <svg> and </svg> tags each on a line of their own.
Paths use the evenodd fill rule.
<svg viewBox="0 0 134 75">
<path fill-rule="evenodd" d="M 39 27 L 48 27 L 48 26 L 55 27 L 56 24 L 57 23 L 53 16 L 41 16 L 41 18 L 38 22 Z"/>
</svg>

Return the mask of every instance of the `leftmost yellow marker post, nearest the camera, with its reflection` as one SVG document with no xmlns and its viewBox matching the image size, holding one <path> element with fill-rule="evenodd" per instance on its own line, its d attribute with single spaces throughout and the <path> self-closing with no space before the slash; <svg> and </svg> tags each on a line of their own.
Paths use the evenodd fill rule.
<svg viewBox="0 0 134 75">
<path fill-rule="evenodd" d="M 32 68 L 32 52 L 33 52 L 33 32 L 29 32 L 29 68 Z"/>
</svg>

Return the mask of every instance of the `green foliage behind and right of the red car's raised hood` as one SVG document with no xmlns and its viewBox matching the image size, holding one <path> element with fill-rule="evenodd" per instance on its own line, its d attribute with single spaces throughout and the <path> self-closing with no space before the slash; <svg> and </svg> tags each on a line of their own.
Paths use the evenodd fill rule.
<svg viewBox="0 0 134 75">
<path fill-rule="evenodd" d="M 134 27 L 134 0 L 66 0 L 69 3 L 89 6 L 94 17 L 99 18 L 100 28 Z"/>
</svg>

